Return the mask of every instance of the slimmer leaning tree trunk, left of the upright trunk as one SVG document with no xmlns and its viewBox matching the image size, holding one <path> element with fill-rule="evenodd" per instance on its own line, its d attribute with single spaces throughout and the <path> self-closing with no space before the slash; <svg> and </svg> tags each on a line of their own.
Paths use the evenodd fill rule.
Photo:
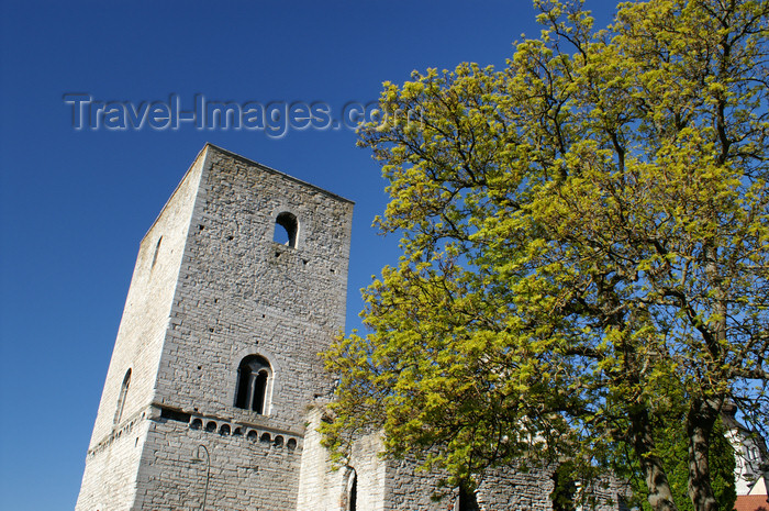
<svg viewBox="0 0 769 511">
<path fill-rule="evenodd" d="M 654 511 L 678 511 L 662 460 L 654 451 L 655 443 L 648 410 L 634 412 L 629 419 L 633 427 L 633 447 L 649 490 L 649 506 Z"/>
</svg>

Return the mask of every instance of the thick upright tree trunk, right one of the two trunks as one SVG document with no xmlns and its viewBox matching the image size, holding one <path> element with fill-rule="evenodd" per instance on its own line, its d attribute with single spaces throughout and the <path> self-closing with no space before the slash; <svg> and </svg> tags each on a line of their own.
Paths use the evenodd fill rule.
<svg viewBox="0 0 769 511">
<path fill-rule="evenodd" d="M 689 498 L 694 511 L 717 511 L 718 501 L 713 495 L 710 471 L 710 442 L 718 409 L 701 399 L 695 399 L 687 415 L 689 436 Z M 728 511 L 728 510 L 725 510 Z"/>
</svg>

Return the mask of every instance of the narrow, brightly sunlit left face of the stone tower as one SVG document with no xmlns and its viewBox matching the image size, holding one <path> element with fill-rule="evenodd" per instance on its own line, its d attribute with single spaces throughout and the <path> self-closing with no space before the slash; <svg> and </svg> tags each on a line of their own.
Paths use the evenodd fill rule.
<svg viewBox="0 0 769 511">
<path fill-rule="evenodd" d="M 198 155 L 140 244 L 123 316 L 104 381 L 76 509 L 129 509 L 157 368 L 168 329 L 187 233 L 202 170 Z M 159 241 L 159 244 L 158 244 Z M 116 419 L 126 373 L 131 380 Z"/>
</svg>

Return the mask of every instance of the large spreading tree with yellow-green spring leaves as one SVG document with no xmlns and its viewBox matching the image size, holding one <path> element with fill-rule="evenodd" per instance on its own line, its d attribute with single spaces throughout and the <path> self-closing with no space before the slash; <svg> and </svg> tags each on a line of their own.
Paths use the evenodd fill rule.
<svg viewBox="0 0 769 511">
<path fill-rule="evenodd" d="M 769 3 L 628 2 L 600 31 L 535 3 L 542 35 L 505 68 L 388 82 L 361 127 L 403 255 L 365 290 L 370 331 L 326 355 L 326 442 L 380 427 L 465 492 L 490 467 L 584 479 L 626 453 L 667 511 L 675 431 L 714 511 L 725 400 L 769 415 Z"/>
</svg>

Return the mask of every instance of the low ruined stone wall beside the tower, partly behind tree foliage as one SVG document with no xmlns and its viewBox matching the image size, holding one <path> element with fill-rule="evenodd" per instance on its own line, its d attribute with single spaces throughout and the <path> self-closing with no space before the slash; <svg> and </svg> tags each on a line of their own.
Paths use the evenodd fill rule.
<svg viewBox="0 0 769 511">
<path fill-rule="evenodd" d="M 317 432 L 323 408 L 308 413 L 301 470 L 298 511 L 345 511 L 349 497 L 348 477 L 357 477 L 357 510 L 361 511 L 447 511 L 453 510 L 457 491 L 441 488 L 445 474 L 424 471 L 415 459 L 386 459 L 381 435 L 361 435 L 352 447 L 348 465 L 334 467 L 328 452 L 321 446 Z M 503 467 L 489 470 L 481 481 L 477 499 L 484 511 L 551 511 L 553 469 Z M 617 511 L 623 488 L 613 478 L 584 488 L 595 506 L 583 511 Z M 436 499 L 437 497 L 437 499 Z"/>
</svg>

